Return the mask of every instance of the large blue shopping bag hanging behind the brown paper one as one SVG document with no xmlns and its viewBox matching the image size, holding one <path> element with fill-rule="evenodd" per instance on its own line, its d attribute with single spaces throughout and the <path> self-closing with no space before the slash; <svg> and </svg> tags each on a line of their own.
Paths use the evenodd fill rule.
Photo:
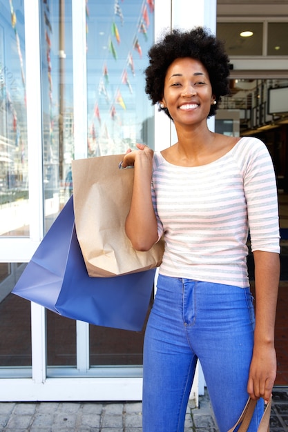
<svg viewBox="0 0 288 432">
<path fill-rule="evenodd" d="M 72 196 L 12 293 L 74 320 L 141 331 L 154 276 L 155 269 L 118 277 L 89 277 L 77 241 Z"/>
</svg>

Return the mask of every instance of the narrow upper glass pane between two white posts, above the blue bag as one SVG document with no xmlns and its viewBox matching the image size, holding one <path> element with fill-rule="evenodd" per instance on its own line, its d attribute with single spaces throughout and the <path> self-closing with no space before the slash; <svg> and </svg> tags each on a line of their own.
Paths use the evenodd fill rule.
<svg viewBox="0 0 288 432">
<path fill-rule="evenodd" d="M 40 3 L 45 232 L 72 193 L 73 59 L 71 1 Z"/>
</svg>

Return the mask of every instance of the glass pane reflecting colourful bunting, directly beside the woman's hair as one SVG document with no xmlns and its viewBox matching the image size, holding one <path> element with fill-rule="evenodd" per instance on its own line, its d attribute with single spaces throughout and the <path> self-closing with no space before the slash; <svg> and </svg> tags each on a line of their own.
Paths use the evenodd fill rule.
<svg viewBox="0 0 288 432">
<path fill-rule="evenodd" d="M 88 155 L 153 148 L 153 107 L 144 92 L 153 6 L 146 0 L 87 6 Z"/>
</svg>

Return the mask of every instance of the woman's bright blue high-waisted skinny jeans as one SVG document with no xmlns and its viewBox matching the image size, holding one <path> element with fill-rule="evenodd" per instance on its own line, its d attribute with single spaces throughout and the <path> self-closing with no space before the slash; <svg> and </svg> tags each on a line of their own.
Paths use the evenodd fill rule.
<svg viewBox="0 0 288 432">
<path fill-rule="evenodd" d="M 253 299 L 239 288 L 160 275 L 144 340 L 143 432 L 183 432 L 197 359 L 220 432 L 247 402 Z M 257 404 L 249 432 L 264 410 Z"/>
</svg>

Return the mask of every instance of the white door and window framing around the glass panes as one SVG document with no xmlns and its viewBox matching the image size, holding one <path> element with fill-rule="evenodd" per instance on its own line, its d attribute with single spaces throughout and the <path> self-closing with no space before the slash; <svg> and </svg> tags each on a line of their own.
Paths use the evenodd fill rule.
<svg viewBox="0 0 288 432">
<path fill-rule="evenodd" d="M 181 28 L 205 24 L 214 30 L 216 0 L 198 0 L 197 8 L 193 1 L 186 0 L 171 0 L 170 5 L 167 7 L 167 0 L 155 0 L 156 39 L 163 28 L 175 27 L 178 23 L 181 23 Z M 79 159 L 87 156 L 86 11 L 84 1 L 72 0 L 72 6 L 75 159 Z M 195 16 L 195 10 L 198 10 L 198 16 Z M 25 28 L 30 237 L 1 238 L 1 262 L 28 262 L 44 236 L 39 0 L 25 1 Z M 155 109 L 155 150 L 161 150 L 173 141 L 175 131 L 171 121 Z M 17 374 L 21 376 L 17 378 L 12 378 L 15 368 L 6 369 L 6 377 L 3 377 L 1 370 L 3 378 L 0 382 L 5 380 L 5 385 L 0 386 L 0 401 L 142 399 L 141 366 L 89 369 L 88 324 L 77 322 L 77 368 L 61 371 L 47 370 L 46 312 L 44 307 L 35 303 L 31 304 L 31 327 L 32 368 L 17 368 Z M 196 400 L 199 382 L 200 386 L 204 386 L 197 372 L 191 393 Z"/>
</svg>

